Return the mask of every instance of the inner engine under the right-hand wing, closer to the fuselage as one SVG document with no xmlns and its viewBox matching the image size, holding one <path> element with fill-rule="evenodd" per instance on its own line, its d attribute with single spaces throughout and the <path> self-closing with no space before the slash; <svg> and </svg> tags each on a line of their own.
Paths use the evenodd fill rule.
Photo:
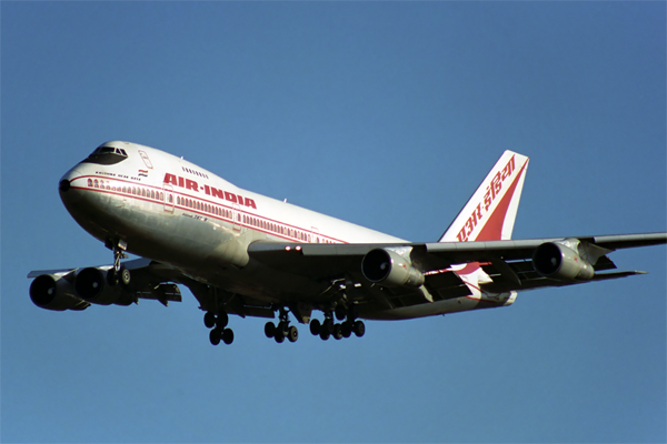
<svg viewBox="0 0 667 444">
<path fill-rule="evenodd" d="M 400 254 L 386 249 L 369 251 L 361 261 L 364 278 L 386 286 L 420 286 L 424 274 Z"/>
</svg>

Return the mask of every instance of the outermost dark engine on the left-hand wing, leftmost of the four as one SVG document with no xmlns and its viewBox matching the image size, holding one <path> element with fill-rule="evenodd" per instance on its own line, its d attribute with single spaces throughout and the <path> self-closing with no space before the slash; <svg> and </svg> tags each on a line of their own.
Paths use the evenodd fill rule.
<svg viewBox="0 0 667 444">
<path fill-rule="evenodd" d="M 30 284 L 30 299 L 34 305 L 54 311 L 86 310 L 89 302 L 74 295 L 71 283 L 54 274 L 42 274 Z"/>
</svg>

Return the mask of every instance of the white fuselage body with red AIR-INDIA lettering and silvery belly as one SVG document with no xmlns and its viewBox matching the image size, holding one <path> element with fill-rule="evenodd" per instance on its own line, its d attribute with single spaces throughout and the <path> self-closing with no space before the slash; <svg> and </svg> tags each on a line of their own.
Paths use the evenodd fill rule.
<svg viewBox="0 0 667 444">
<path fill-rule="evenodd" d="M 61 179 L 61 199 L 84 230 L 107 245 L 120 241 L 133 254 L 261 303 L 325 300 L 331 283 L 286 274 L 252 261 L 248 255 L 252 242 L 406 242 L 240 189 L 160 150 L 118 141 L 102 147 L 116 147 L 117 152 L 93 153 Z M 406 319 L 474 310 L 486 296 L 475 285 L 470 290 L 471 297 L 379 316 Z M 509 294 L 501 300 L 494 295 L 494 303 L 512 301 Z"/>
</svg>

